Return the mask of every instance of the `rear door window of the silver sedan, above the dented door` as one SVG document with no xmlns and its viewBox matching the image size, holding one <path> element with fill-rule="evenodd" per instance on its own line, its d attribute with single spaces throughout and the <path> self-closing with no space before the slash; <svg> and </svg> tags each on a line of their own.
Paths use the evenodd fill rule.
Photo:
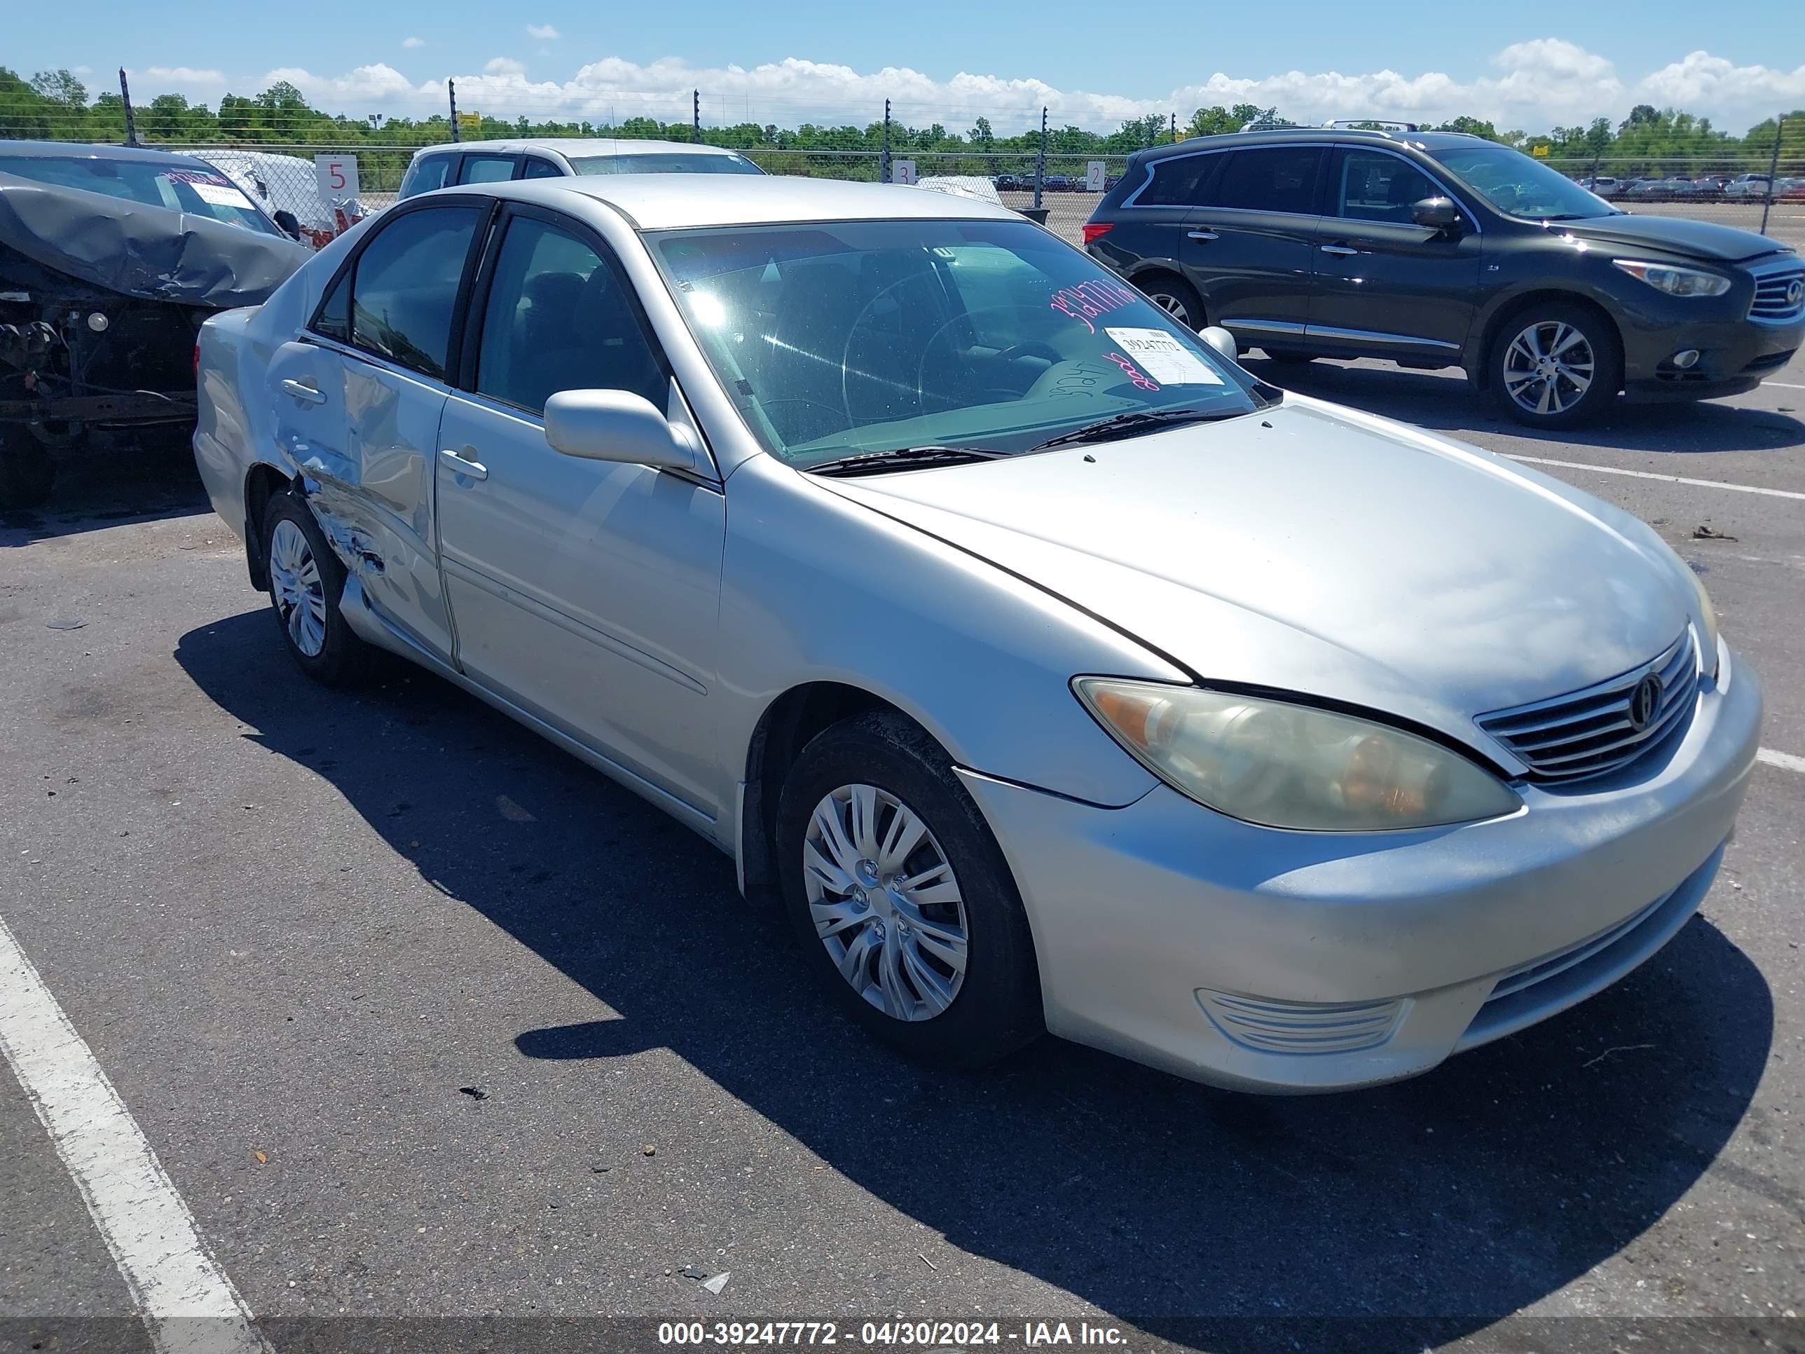
<svg viewBox="0 0 1805 1354">
<path fill-rule="evenodd" d="M 477 208 L 448 206 L 408 211 L 383 226 L 357 255 L 352 345 L 444 381 L 457 291 L 478 218 Z"/>
</svg>

